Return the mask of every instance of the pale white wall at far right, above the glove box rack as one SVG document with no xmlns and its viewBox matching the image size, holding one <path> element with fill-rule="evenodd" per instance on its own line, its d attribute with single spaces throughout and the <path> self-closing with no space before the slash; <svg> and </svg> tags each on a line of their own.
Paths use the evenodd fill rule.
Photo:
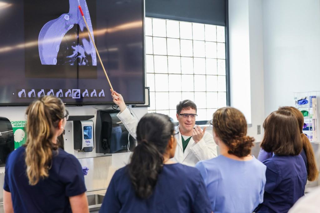
<svg viewBox="0 0 320 213">
<path fill-rule="evenodd" d="M 319 0 L 264 0 L 265 115 L 293 105 L 293 92 L 320 90 Z"/>
</svg>

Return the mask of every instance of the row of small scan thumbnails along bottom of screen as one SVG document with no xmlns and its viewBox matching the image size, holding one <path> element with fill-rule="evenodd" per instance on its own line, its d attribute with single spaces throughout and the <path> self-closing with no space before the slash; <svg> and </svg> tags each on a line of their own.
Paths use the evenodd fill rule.
<svg viewBox="0 0 320 213">
<path fill-rule="evenodd" d="M 53 95 L 58 98 L 105 97 L 103 89 L 19 89 L 19 98 L 36 98 Z"/>
</svg>

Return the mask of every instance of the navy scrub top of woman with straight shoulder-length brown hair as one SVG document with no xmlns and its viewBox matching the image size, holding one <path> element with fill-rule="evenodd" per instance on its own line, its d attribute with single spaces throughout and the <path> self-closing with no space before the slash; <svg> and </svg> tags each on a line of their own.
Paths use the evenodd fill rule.
<svg viewBox="0 0 320 213">
<path fill-rule="evenodd" d="M 307 169 L 301 157 L 274 155 L 263 161 L 267 166 L 263 203 L 256 212 L 288 212 L 304 195 Z"/>
</svg>

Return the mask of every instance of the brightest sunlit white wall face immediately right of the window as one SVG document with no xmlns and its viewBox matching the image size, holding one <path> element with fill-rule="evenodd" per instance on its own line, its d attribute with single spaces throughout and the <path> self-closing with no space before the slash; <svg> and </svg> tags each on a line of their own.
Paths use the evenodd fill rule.
<svg viewBox="0 0 320 213">
<path fill-rule="evenodd" d="M 249 1 L 229 0 L 230 102 L 251 123 Z"/>
</svg>

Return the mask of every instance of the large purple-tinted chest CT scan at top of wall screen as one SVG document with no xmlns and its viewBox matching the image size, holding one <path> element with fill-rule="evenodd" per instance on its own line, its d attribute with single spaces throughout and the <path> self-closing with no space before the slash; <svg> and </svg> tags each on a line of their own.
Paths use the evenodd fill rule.
<svg viewBox="0 0 320 213">
<path fill-rule="evenodd" d="M 83 8 L 89 29 L 86 28 L 82 17 L 78 16 L 78 5 Z M 96 9 L 95 5 L 92 5 L 91 8 L 92 10 Z M 30 10 L 27 9 L 26 11 Z M 95 21 L 95 19 L 93 20 Z M 25 21 L 25 23 L 33 22 Z M 86 31 L 90 31 L 94 35 L 87 2 L 85 0 L 69 1 L 69 12 L 61 14 L 57 19 L 48 21 L 40 30 L 38 46 L 41 64 L 96 66 L 97 56 L 93 46 L 94 38 L 91 41 Z"/>
</svg>

